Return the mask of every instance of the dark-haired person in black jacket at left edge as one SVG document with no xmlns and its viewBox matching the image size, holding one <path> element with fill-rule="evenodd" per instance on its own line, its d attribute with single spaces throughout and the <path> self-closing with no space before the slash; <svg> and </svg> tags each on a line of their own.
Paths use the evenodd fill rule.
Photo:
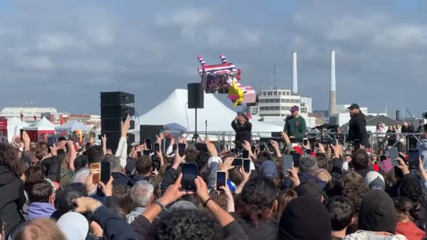
<svg viewBox="0 0 427 240">
<path fill-rule="evenodd" d="M 6 223 L 5 236 L 24 220 L 21 209 L 26 197 L 20 173 L 21 164 L 14 147 L 0 143 L 0 215 Z"/>
</svg>

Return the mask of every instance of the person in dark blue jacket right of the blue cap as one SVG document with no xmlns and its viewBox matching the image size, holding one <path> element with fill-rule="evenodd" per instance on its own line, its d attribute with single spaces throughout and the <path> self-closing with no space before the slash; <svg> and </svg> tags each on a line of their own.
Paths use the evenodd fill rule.
<svg viewBox="0 0 427 240">
<path fill-rule="evenodd" d="M 298 177 L 300 178 L 300 183 L 303 182 L 314 182 L 321 189 L 324 189 L 326 186 L 326 182 L 320 180 L 320 178 L 316 177 L 316 171 L 318 169 L 317 159 L 311 155 L 304 156 L 300 160 L 300 172 L 298 173 Z M 292 181 L 290 178 L 285 178 L 282 184 L 280 185 L 280 189 L 287 189 L 292 187 Z"/>
</svg>

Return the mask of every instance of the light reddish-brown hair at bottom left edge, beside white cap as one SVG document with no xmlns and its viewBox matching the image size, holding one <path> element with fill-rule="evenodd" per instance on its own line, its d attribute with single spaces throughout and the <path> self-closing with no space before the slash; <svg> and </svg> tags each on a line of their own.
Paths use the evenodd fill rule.
<svg viewBox="0 0 427 240">
<path fill-rule="evenodd" d="M 16 231 L 15 240 L 66 240 L 65 235 L 51 219 L 39 218 L 24 223 Z"/>
</svg>

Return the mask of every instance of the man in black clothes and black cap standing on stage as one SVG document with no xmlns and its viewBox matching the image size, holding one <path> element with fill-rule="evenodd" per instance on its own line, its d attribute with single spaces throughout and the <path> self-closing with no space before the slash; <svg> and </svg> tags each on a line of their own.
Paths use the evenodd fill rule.
<svg viewBox="0 0 427 240">
<path fill-rule="evenodd" d="M 364 114 L 360 111 L 359 104 L 352 104 L 347 109 L 350 110 L 349 122 L 349 141 L 359 140 L 360 144 L 369 147 L 368 134 L 367 134 L 367 120 Z M 356 146 L 359 148 L 359 146 Z"/>
</svg>

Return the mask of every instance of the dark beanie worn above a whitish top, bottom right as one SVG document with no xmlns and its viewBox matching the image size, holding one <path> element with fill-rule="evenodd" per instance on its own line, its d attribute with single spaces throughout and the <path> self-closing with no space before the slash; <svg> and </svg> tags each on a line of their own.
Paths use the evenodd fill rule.
<svg viewBox="0 0 427 240">
<path fill-rule="evenodd" d="M 382 190 L 371 190 L 362 199 L 359 230 L 396 232 L 396 209 L 393 200 Z"/>
</svg>

